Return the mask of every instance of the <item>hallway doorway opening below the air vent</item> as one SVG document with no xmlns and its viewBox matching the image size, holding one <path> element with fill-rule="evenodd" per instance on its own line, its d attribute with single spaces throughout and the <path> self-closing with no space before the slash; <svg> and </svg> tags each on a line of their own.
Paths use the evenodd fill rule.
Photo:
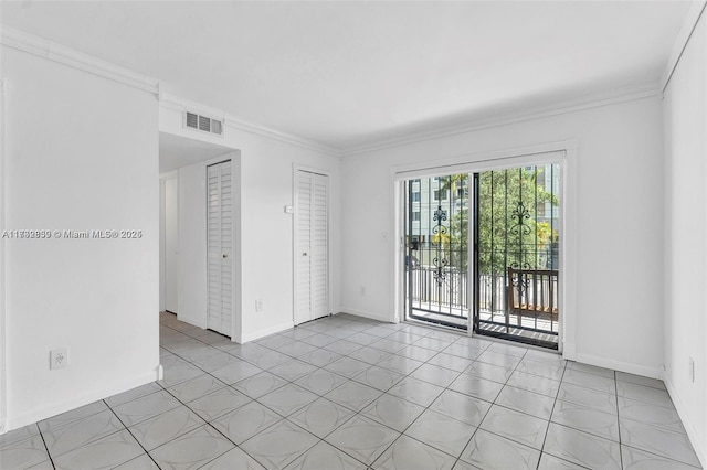
<svg viewBox="0 0 707 470">
<path fill-rule="evenodd" d="M 160 311 L 240 340 L 240 154 L 160 132 Z"/>
</svg>

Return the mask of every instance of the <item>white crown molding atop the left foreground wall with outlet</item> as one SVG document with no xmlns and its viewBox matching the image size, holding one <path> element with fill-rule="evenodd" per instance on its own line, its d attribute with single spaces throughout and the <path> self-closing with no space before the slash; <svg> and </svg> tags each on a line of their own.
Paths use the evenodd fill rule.
<svg viewBox="0 0 707 470">
<path fill-rule="evenodd" d="M 144 92 L 159 94 L 159 81 L 119 65 L 84 54 L 52 41 L 6 26 L 0 28 L 0 44 L 118 82 Z"/>
</svg>

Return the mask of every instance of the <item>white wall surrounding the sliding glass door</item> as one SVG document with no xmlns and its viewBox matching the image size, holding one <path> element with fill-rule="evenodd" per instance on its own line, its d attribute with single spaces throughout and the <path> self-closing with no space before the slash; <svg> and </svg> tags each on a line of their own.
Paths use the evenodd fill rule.
<svg viewBox="0 0 707 470">
<path fill-rule="evenodd" d="M 576 357 L 658 376 L 661 126 L 661 102 L 652 97 L 344 158 L 344 310 L 392 319 L 394 253 L 382 236 L 393 216 L 391 168 L 450 159 L 472 162 L 492 152 L 576 140 L 578 181 L 570 191 L 577 196 L 577 310 L 566 312 L 576 320 Z"/>
</svg>

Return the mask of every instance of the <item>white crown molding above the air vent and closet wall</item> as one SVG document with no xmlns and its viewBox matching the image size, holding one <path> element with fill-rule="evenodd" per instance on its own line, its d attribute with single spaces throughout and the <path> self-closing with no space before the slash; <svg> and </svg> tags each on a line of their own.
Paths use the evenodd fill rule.
<svg viewBox="0 0 707 470">
<path fill-rule="evenodd" d="M 205 106 L 196 102 L 190 102 L 188 99 L 183 99 L 178 96 L 170 95 L 168 93 L 160 93 L 159 100 L 160 100 L 160 106 L 163 106 L 165 108 L 168 108 L 168 109 L 178 110 L 180 113 L 184 110 L 189 110 L 189 111 L 200 114 L 202 116 L 210 116 L 213 118 L 223 119 L 224 126 L 234 130 L 240 130 L 243 132 L 249 132 L 256 136 L 265 137 L 267 139 L 277 140 L 284 143 L 288 143 L 291 146 L 296 146 L 304 149 L 327 153 L 331 157 L 339 157 L 341 153 L 340 150 L 335 147 L 330 147 L 314 140 L 305 139 L 303 137 L 298 137 L 292 133 L 282 132 L 279 130 L 261 126 L 254 122 L 249 122 L 235 116 L 232 116 L 222 109 L 217 109 L 217 108 L 212 108 L 210 106 Z"/>
</svg>

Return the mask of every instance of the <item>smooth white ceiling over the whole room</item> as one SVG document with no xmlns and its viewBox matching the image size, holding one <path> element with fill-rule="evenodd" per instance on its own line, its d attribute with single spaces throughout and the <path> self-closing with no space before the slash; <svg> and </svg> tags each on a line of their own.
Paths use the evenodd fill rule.
<svg viewBox="0 0 707 470">
<path fill-rule="evenodd" d="M 3 1 L 2 23 L 352 149 L 656 88 L 687 1 Z"/>
</svg>

